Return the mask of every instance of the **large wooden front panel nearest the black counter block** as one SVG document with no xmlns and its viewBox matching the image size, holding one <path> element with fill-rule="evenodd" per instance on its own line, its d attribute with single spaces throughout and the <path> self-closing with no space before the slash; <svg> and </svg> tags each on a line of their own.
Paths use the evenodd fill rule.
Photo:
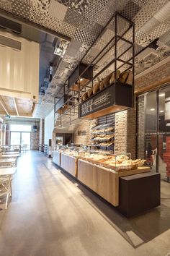
<svg viewBox="0 0 170 256">
<path fill-rule="evenodd" d="M 78 179 L 98 195 L 110 202 L 118 205 L 118 176 L 107 169 L 94 166 L 85 161 L 78 161 Z"/>
</svg>

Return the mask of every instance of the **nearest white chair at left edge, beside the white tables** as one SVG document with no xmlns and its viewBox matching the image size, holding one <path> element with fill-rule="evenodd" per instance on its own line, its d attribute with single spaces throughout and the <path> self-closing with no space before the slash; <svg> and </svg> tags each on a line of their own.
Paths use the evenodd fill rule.
<svg viewBox="0 0 170 256">
<path fill-rule="evenodd" d="M 0 197 L 6 195 L 5 209 L 8 207 L 9 197 L 11 195 L 11 184 L 9 182 L 9 176 L 4 175 L 0 178 Z M 0 199 L 1 202 L 1 199 Z"/>
</svg>

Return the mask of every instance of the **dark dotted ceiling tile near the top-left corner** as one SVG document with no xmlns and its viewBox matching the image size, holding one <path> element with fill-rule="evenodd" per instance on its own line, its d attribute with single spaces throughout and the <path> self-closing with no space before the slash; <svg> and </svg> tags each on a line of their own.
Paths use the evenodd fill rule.
<svg viewBox="0 0 170 256">
<path fill-rule="evenodd" d="M 28 20 L 30 17 L 30 5 L 19 0 L 12 0 L 12 12 Z"/>
</svg>

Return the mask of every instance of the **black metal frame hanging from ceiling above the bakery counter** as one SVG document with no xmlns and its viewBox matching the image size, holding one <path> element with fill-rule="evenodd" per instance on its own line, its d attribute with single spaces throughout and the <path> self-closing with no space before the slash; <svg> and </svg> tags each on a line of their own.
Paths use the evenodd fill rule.
<svg viewBox="0 0 170 256">
<path fill-rule="evenodd" d="M 124 26 L 122 26 L 124 22 Z M 120 25 L 121 23 L 121 25 Z M 116 72 L 118 69 L 122 69 L 123 71 L 132 70 L 133 72 L 133 94 L 134 94 L 134 74 L 135 74 L 135 24 L 131 20 L 128 20 L 126 17 L 123 17 L 121 14 L 115 12 L 112 18 L 107 22 L 102 32 L 98 35 L 94 43 L 92 43 L 91 47 L 86 54 L 81 59 L 81 62 L 86 63 L 86 56 L 91 51 L 91 48 L 95 46 L 97 41 L 102 38 L 102 35 L 106 32 L 106 30 L 110 27 L 114 26 L 115 35 L 109 40 L 109 42 L 102 48 L 101 51 L 94 57 L 94 59 L 87 65 L 84 72 L 79 74 L 79 78 L 77 80 L 78 90 L 73 90 L 68 86 L 68 80 L 66 80 L 65 84 L 61 88 L 59 93 L 63 95 L 67 95 L 66 101 L 63 103 L 63 106 L 60 109 L 60 113 L 58 114 L 56 109 L 56 105 L 58 103 L 58 98 L 55 98 L 55 116 L 58 114 L 57 119 L 55 118 L 55 122 L 58 121 L 58 124 L 55 124 L 55 127 L 69 127 L 71 124 L 74 124 L 74 121 L 79 119 L 79 104 L 81 103 L 81 95 L 89 90 L 89 88 L 93 88 L 94 80 L 99 78 L 111 65 L 114 65 L 114 70 L 112 72 Z M 121 27 L 122 26 L 122 27 Z M 121 31 L 120 31 L 121 27 Z M 127 35 L 129 33 L 129 37 Z M 127 48 L 122 49 L 122 52 L 118 54 L 117 51 L 121 50 L 121 48 L 117 48 L 117 44 L 119 41 L 126 43 L 128 45 Z M 109 61 L 104 67 L 102 67 L 99 72 L 95 74 L 94 68 L 97 67 L 99 61 L 104 58 L 104 56 L 109 53 L 109 51 L 113 52 L 113 58 Z M 128 59 L 126 59 L 125 54 L 130 54 Z M 81 86 L 81 77 L 84 75 L 87 69 L 91 68 L 91 77 L 92 79 L 86 82 L 84 86 Z M 73 72 L 75 69 L 73 70 Z M 72 72 L 72 74 L 73 74 Z M 71 75 L 72 75 L 71 74 Z M 71 77 L 71 76 L 70 76 Z M 60 100 L 59 100 L 60 101 Z M 63 111 L 62 111 L 63 108 Z M 76 117 L 73 119 L 73 117 Z"/>
</svg>

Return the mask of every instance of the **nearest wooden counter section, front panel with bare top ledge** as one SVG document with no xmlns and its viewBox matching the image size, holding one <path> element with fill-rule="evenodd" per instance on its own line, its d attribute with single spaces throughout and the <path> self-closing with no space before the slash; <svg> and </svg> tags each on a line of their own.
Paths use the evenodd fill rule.
<svg viewBox="0 0 170 256">
<path fill-rule="evenodd" d="M 114 206 L 119 205 L 119 178 L 150 171 L 149 167 L 114 171 L 96 163 L 78 160 L 78 179 Z"/>
</svg>

